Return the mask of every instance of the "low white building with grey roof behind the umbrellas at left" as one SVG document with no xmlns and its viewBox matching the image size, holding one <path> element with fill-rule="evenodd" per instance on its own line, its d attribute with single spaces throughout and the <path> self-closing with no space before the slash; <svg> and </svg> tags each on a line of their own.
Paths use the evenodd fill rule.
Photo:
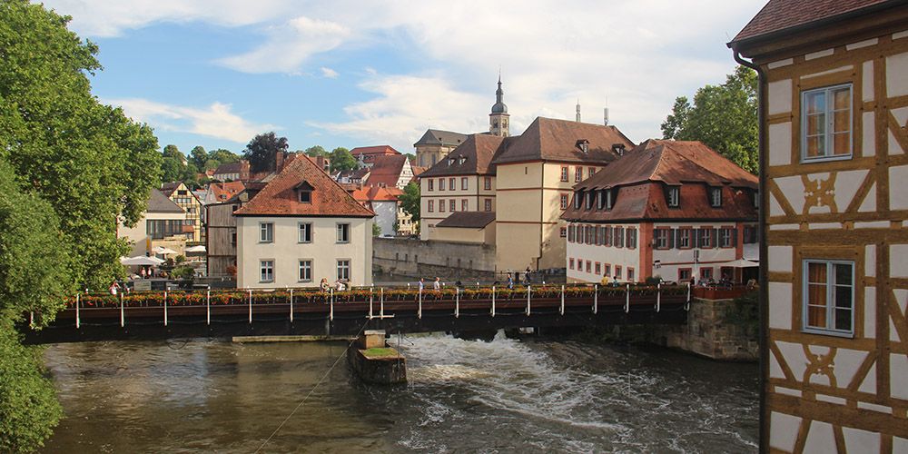
<svg viewBox="0 0 908 454">
<path fill-rule="evenodd" d="M 148 206 L 142 219 L 133 227 L 126 227 L 123 222 L 117 223 L 117 238 L 126 238 L 133 249 L 130 257 L 137 255 L 153 255 L 153 248 L 166 246 L 176 252 L 183 253 L 186 243 L 186 234 L 183 226 L 186 212 L 176 203 L 167 198 L 162 192 L 153 189 L 149 193 Z"/>
</svg>

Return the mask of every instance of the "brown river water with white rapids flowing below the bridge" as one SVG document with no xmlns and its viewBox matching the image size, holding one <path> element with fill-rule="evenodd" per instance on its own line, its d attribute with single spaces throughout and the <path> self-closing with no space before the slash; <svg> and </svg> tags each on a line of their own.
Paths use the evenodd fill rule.
<svg viewBox="0 0 908 454">
<path fill-rule="evenodd" d="M 345 343 L 54 345 L 66 417 L 44 451 L 254 452 L 285 420 L 262 452 L 756 450 L 753 364 L 500 333 L 399 343 L 396 388 L 353 378 Z"/>
</svg>

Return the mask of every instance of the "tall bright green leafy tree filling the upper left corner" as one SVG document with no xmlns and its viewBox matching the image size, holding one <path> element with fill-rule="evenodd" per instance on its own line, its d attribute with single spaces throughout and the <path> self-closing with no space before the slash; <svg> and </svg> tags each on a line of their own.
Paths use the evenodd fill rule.
<svg viewBox="0 0 908 454">
<path fill-rule="evenodd" d="M 129 249 L 116 222 L 138 221 L 162 155 L 151 128 L 91 93 L 97 47 L 67 21 L 25 0 L 0 2 L 0 159 L 51 203 L 69 274 L 98 289 L 123 272 L 118 259 Z"/>
</svg>

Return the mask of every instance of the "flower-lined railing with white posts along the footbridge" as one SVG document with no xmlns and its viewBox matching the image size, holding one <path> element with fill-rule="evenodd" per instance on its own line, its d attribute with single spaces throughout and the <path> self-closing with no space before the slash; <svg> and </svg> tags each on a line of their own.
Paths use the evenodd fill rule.
<svg viewBox="0 0 908 454">
<path fill-rule="evenodd" d="M 65 301 L 67 309 L 160 307 L 160 306 L 222 306 L 250 304 L 325 304 L 368 303 L 381 297 L 384 301 L 523 301 L 530 299 L 607 299 L 640 296 L 668 297 L 688 295 L 686 285 L 626 284 L 599 287 L 587 284 L 570 285 L 518 285 L 508 287 L 468 287 L 441 290 L 406 287 L 356 287 L 349 291 L 320 291 L 312 288 L 291 289 L 237 289 L 200 291 L 127 291 L 117 295 L 107 292 L 84 292 Z"/>
</svg>

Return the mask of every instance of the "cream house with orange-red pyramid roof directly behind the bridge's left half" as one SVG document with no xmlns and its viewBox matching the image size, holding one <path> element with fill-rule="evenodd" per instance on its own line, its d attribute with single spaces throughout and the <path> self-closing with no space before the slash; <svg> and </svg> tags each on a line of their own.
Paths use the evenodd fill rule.
<svg viewBox="0 0 908 454">
<path fill-rule="evenodd" d="M 294 160 L 234 212 L 237 287 L 370 285 L 374 215 L 308 156 Z"/>
</svg>

